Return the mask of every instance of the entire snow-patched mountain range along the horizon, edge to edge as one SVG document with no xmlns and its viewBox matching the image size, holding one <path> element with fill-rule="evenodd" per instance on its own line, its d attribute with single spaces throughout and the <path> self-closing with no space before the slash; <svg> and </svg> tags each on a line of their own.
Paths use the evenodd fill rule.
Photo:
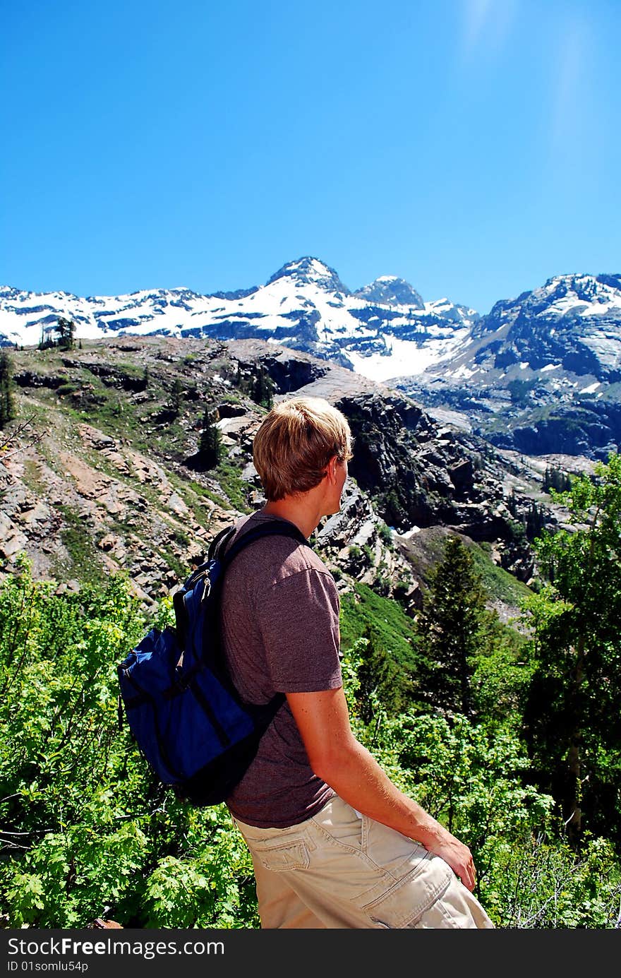
<svg viewBox="0 0 621 978">
<path fill-rule="evenodd" d="M 264 286 L 81 298 L 0 289 L 0 344 L 34 346 L 60 316 L 78 339 L 168 335 L 282 344 L 385 383 L 458 427 L 529 455 L 603 461 L 621 442 L 621 276 L 571 273 L 486 316 L 382 275 L 352 291 L 313 256 Z"/>
</svg>

